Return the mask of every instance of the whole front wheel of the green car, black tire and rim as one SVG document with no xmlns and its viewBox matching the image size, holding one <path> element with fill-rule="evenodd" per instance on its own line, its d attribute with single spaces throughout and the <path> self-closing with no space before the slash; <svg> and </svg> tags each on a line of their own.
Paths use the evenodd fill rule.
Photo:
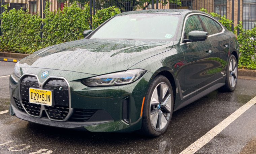
<svg viewBox="0 0 256 154">
<path fill-rule="evenodd" d="M 169 80 L 163 75 L 157 75 L 145 97 L 140 132 L 151 137 L 162 135 L 170 124 L 173 104 Z"/>
</svg>

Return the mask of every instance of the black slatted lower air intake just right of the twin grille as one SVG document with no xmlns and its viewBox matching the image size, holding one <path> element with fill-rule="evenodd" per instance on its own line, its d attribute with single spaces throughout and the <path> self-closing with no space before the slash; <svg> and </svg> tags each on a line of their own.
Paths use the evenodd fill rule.
<svg viewBox="0 0 256 154">
<path fill-rule="evenodd" d="M 69 121 L 85 122 L 89 120 L 96 111 L 97 110 L 94 109 L 74 109 Z"/>
</svg>

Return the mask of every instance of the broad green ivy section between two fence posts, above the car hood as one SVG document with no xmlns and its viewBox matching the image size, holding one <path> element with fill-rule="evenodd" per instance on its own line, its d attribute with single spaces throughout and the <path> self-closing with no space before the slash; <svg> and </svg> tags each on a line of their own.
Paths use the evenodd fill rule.
<svg viewBox="0 0 256 154">
<path fill-rule="evenodd" d="M 89 6 L 81 9 L 76 3 L 57 12 L 50 11 L 49 3 L 44 10 L 43 37 L 47 46 L 82 39 L 83 31 L 90 29 Z"/>
</svg>

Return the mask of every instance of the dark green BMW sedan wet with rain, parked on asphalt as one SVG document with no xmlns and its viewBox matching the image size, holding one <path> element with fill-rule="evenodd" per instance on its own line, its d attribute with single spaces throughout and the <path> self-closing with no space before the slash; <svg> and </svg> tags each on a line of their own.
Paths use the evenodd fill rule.
<svg viewBox="0 0 256 154">
<path fill-rule="evenodd" d="M 203 12 L 125 12 L 84 35 L 15 65 L 11 115 L 55 127 L 159 136 L 173 111 L 237 84 L 236 37 Z"/>
</svg>

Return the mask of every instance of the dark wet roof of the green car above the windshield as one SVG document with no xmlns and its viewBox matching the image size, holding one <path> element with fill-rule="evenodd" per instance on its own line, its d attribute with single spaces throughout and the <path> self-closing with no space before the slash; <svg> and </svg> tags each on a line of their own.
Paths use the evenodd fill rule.
<svg viewBox="0 0 256 154">
<path fill-rule="evenodd" d="M 123 12 L 118 15 L 127 15 L 127 14 L 141 14 L 141 13 L 161 13 L 161 14 L 187 14 L 187 13 L 202 13 L 202 11 L 197 10 L 186 10 L 186 9 L 149 9 L 149 10 L 139 10 L 139 11 L 128 11 Z"/>
</svg>

